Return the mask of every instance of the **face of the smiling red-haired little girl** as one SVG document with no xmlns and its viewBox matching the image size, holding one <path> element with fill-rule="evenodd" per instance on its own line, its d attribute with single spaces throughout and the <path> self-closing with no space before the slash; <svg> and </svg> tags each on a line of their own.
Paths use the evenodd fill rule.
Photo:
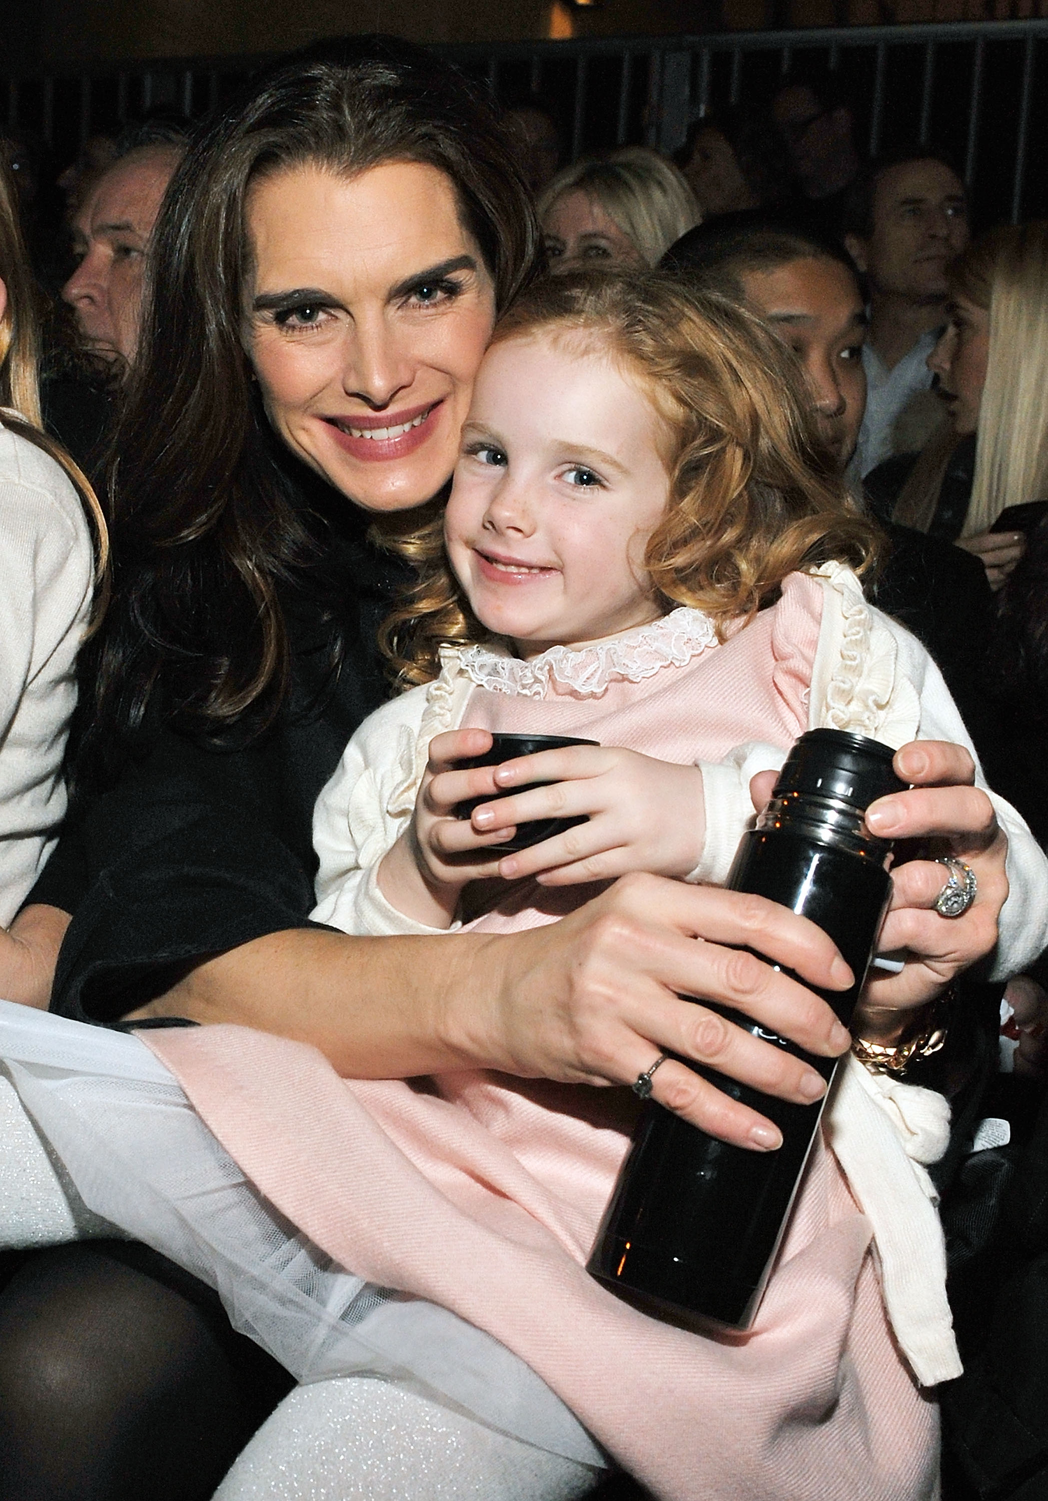
<svg viewBox="0 0 1048 1501">
<path fill-rule="evenodd" d="M 670 476 L 665 425 L 589 344 L 548 332 L 485 357 L 444 521 L 473 612 L 522 656 L 655 620 L 644 549 Z"/>
</svg>

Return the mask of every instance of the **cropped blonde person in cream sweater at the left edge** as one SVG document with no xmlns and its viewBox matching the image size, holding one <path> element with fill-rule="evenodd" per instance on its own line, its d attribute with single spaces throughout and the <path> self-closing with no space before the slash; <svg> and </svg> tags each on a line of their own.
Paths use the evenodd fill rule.
<svg viewBox="0 0 1048 1501">
<path fill-rule="evenodd" d="M 0 164 L 0 995 L 35 965 L 41 908 L 17 913 L 66 811 L 75 659 L 105 576 L 90 483 L 41 426 L 36 288 Z M 95 542 L 92 542 L 92 531 Z"/>
</svg>

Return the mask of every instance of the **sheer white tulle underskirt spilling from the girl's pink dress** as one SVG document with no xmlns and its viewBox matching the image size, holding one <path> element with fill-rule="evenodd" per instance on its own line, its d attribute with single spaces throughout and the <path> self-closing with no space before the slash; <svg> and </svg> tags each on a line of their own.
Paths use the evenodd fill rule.
<svg viewBox="0 0 1048 1501">
<path fill-rule="evenodd" d="M 213 1286 L 299 1381 L 369 1375 L 583 1465 L 604 1451 L 504 1345 L 335 1265 L 137 1039 L 0 1001 L 0 1246 L 126 1235 Z"/>
</svg>

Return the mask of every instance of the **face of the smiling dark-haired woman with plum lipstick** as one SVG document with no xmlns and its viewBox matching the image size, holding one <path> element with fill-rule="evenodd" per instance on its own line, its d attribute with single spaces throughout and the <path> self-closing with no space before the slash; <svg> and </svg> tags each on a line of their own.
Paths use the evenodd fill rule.
<svg viewBox="0 0 1048 1501">
<path fill-rule="evenodd" d="M 405 510 L 455 465 L 494 288 L 435 167 L 308 164 L 248 197 L 246 348 L 266 413 L 365 510 Z"/>
</svg>

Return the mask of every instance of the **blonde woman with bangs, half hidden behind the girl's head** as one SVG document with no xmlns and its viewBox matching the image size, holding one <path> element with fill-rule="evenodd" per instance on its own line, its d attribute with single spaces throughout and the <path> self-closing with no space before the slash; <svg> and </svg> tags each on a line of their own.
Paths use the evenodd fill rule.
<svg viewBox="0 0 1048 1501">
<path fill-rule="evenodd" d="M 703 222 L 683 173 L 646 146 L 584 156 L 565 167 L 538 203 L 550 269 L 658 266 Z"/>
</svg>

